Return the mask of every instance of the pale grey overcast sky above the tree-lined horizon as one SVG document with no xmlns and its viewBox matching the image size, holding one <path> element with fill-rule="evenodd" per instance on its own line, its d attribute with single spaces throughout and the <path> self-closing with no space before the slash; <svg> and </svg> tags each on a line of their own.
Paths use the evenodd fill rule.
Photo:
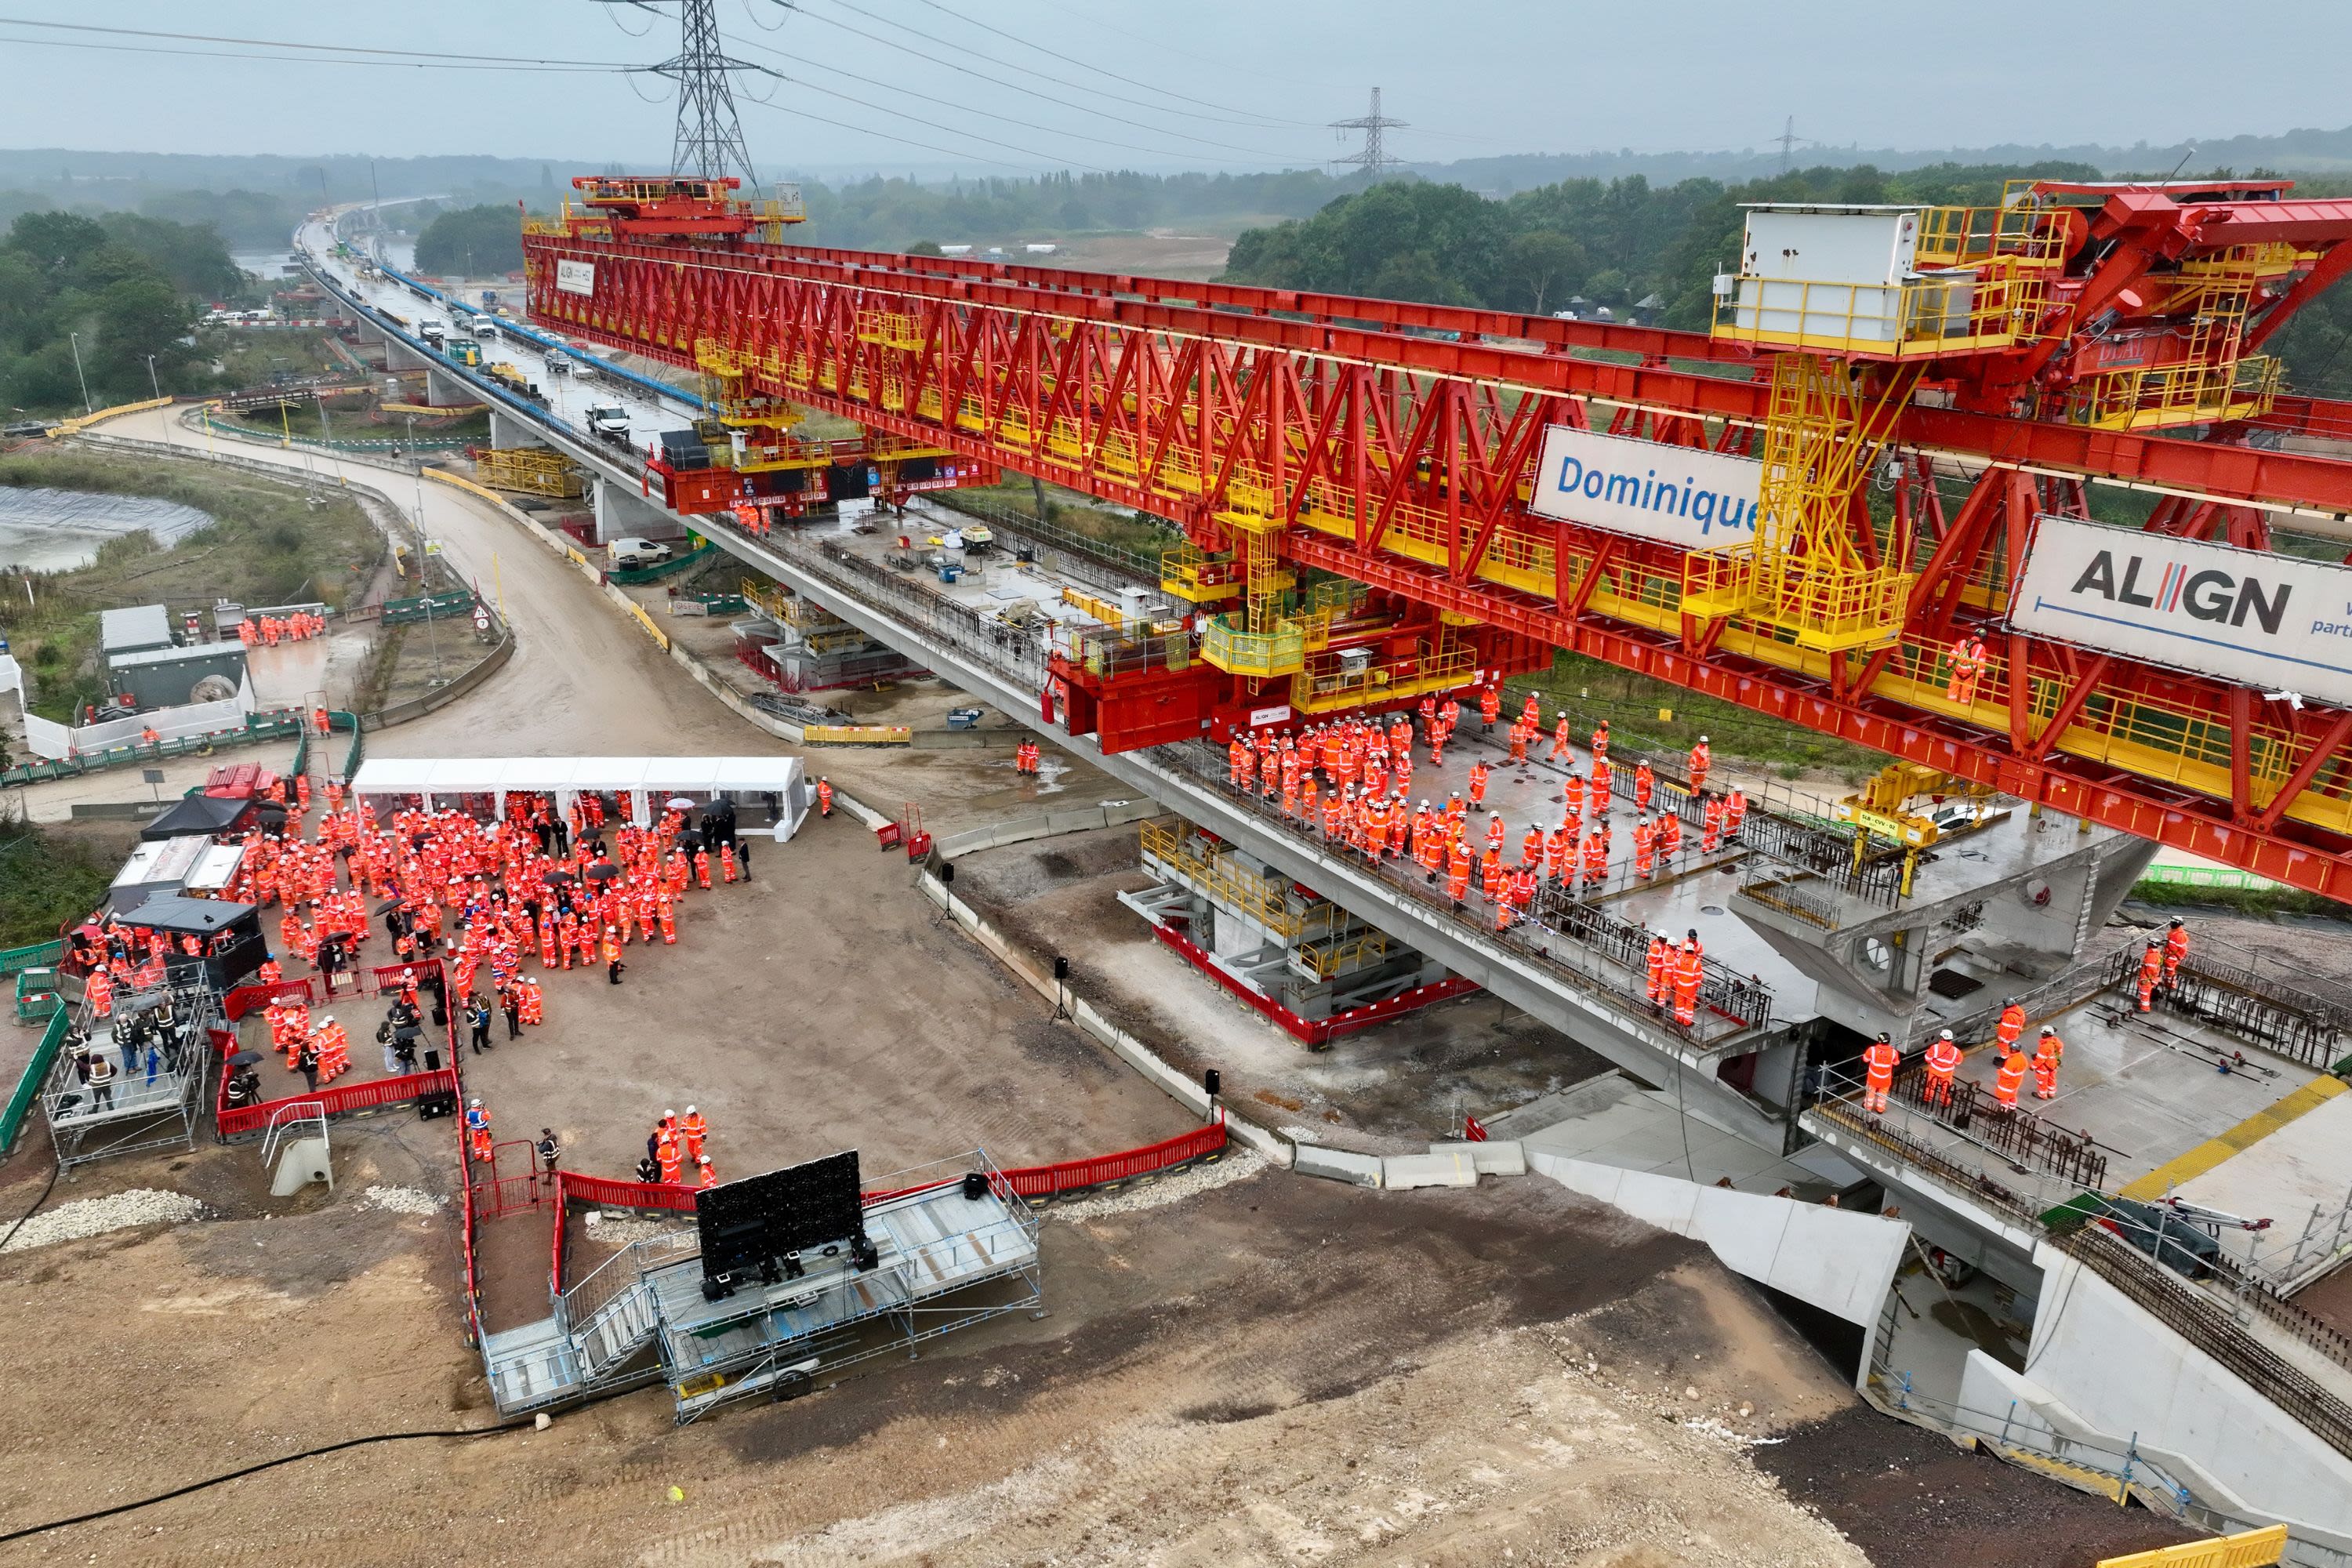
<svg viewBox="0 0 2352 1568">
<path fill-rule="evenodd" d="M 675 5 L 600 0 L 0 9 L 447 59 L 654 63 L 677 47 Z M 1324 122 L 1362 115 L 1374 82 L 1409 122 L 1388 134 L 1406 160 L 1759 148 L 1785 115 L 1818 143 L 1889 148 L 2161 146 L 2352 120 L 2345 0 L 2272 0 L 2246 12 L 2253 40 L 2216 38 L 2227 12 L 2176 0 L 717 0 L 717 14 L 734 54 L 795 78 L 739 89 L 762 172 L 1305 167 L 1338 150 Z M 654 78 L 141 49 L 259 52 L 0 24 L 0 146 L 668 158 L 675 108 Z"/>
</svg>

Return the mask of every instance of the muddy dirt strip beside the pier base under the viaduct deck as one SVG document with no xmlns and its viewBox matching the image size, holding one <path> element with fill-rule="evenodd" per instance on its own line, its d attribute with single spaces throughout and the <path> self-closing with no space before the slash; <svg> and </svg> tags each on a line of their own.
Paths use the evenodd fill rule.
<svg viewBox="0 0 2352 1568">
<path fill-rule="evenodd" d="M 1486 994 L 1404 1013 L 1308 1048 L 1162 945 L 1117 900 L 1150 886 L 1136 827 L 964 856 L 955 891 L 1030 957 L 1070 957 L 1073 990 L 1167 1060 L 1216 1067 L 1225 1098 L 1319 1143 L 1397 1150 L 1446 1138 L 1463 1110 L 1494 1114 L 1569 1088 L 1606 1060 Z"/>
</svg>

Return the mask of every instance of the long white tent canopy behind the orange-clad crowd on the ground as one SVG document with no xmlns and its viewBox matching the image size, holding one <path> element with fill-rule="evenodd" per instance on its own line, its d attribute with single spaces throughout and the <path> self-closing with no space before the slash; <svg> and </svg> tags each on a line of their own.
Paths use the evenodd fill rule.
<svg viewBox="0 0 2352 1568">
<path fill-rule="evenodd" d="M 562 811 L 581 795 L 628 792 L 640 827 L 673 795 L 753 804 L 774 795 L 781 842 L 807 813 L 811 785 L 800 757 L 369 757 L 350 780 L 355 799 L 383 809 L 412 797 L 435 811 L 489 797 L 506 816 L 506 797 L 522 792 L 553 795 Z"/>
</svg>

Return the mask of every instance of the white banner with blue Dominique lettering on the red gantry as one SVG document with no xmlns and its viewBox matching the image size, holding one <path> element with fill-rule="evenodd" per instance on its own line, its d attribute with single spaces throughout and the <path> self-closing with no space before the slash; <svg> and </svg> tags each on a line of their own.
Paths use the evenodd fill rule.
<svg viewBox="0 0 2352 1568">
<path fill-rule="evenodd" d="M 1722 550 L 1755 538 L 1762 487 L 1755 458 L 1548 425 L 1526 505 L 1538 517 Z"/>
</svg>

